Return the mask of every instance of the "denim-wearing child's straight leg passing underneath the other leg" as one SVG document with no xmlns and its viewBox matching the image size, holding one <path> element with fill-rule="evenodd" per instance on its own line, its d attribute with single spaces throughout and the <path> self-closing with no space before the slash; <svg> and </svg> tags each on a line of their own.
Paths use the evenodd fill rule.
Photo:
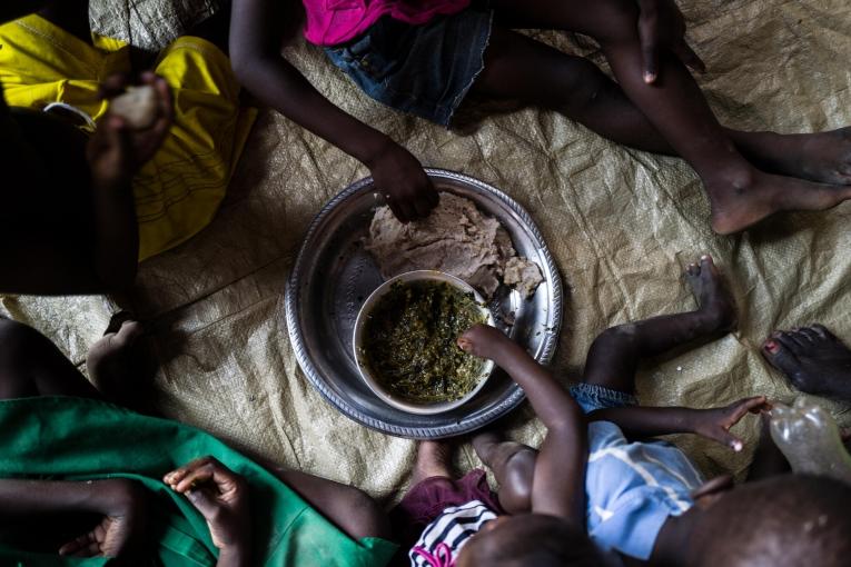
<svg viewBox="0 0 851 567">
<path fill-rule="evenodd" d="M 617 143 L 656 153 L 676 151 L 623 89 L 594 63 L 495 27 L 475 92 L 555 110 Z M 811 135 L 724 128 L 736 149 L 770 173 L 851 183 L 851 128 Z"/>
</svg>

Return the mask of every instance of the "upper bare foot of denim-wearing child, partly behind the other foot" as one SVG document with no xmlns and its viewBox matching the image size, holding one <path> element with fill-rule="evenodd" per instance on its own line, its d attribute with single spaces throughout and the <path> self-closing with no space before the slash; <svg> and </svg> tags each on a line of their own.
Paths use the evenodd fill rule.
<svg viewBox="0 0 851 567">
<path fill-rule="evenodd" d="M 748 136 L 755 143 L 746 143 L 743 151 L 766 171 L 819 183 L 851 185 L 851 127 L 817 133 Z"/>
</svg>

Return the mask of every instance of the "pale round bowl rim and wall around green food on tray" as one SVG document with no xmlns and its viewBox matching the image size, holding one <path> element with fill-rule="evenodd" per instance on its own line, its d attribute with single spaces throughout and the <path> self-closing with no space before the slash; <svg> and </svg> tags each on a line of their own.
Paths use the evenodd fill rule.
<svg viewBox="0 0 851 567">
<path fill-rule="evenodd" d="M 380 398 L 385 404 L 393 406 L 396 409 L 400 409 L 402 411 L 408 411 L 419 416 L 431 416 L 434 414 L 443 414 L 444 411 L 449 411 L 461 407 L 473 399 L 475 395 L 478 394 L 482 388 L 484 388 L 487 378 L 491 376 L 491 372 L 494 371 L 493 360 L 485 360 L 485 362 L 482 365 L 482 374 L 479 376 L 478 384 L 464 397 L 451 401 L 418 404 L 402 396 L 394 395 L 384 386 L 382 386 L 380 381 L 377 380 L 373 375 L 369 365 L 366 364 L 359 356 L 362 351 L 360 349 L 364 345 L 364 329 L 366 328 L 366 319 L 369 317 L 369 314 L 373 311 L 373 308 L 378 304 L 378 301 L 380 301 L 380 299 L 387 295 L 393 285 L 399 281 L 405 284 L 412 281 L 443 281 L 465 294 L 473 294 L 476 304 L 479 306 L 479 311 L 484 316 L 487 325 L 492 327 L 496 326 L 493 314 L 487 307 L 485 307 L 485 300 L 482 298 L 478 291 L 476 291 L 466 281 L 458 279 L 455 276 L 451 276 L 449 273 L 444 273 L 437 270 L 415 270 L 399 273 L 398 276 L 395 276 L 378 286 L 378 289 L 373 291 L 366 301 L 364 301 L 364 305 L 360 307 L 360 311 L 357 314 L 354 339 L 352 344 L 354 345 L 355 360 L 357 361 L 357 369 L 360 371 L 360 377 L 364 379 L 369 389 L 373 390 L 376 396 L 378 396 L 378 398 Z"/>
</svg>

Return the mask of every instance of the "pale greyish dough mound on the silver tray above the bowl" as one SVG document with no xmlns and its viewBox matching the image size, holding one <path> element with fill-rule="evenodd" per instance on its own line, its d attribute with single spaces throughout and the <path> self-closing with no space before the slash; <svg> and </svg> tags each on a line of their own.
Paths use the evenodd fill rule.
<svg viewBox="0 0 851 567">
<path fill-rule="evenodd" d="M 469 199 L 447 192 L 441 193 L 441 205 L 428 218 L 407 225 L 396 220 L 389 207 L 378 208 L 366 249 L 386 279 L 412 270 L 439 270 L 488 298 L 501 278 L 524 297 L 543 279 L 535 263 L 517 257 L 499 221 L 482 215 Z"/>
</svg>

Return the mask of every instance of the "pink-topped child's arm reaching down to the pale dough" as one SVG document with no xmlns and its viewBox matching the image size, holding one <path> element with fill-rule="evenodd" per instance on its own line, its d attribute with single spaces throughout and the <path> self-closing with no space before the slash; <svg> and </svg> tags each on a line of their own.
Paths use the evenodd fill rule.
<svg viewBox="0 0 851 567">
<path fill-rule="evenodd" d="M 428 215 L 437 205 L 437 192 L 419 161 L 329 102 L 281 57 L 285 4 L 284 0 L 234 0 L 230 58 L 239 81 L 264 103 L 368 167 L 399 220 Z"/>
</svg>

